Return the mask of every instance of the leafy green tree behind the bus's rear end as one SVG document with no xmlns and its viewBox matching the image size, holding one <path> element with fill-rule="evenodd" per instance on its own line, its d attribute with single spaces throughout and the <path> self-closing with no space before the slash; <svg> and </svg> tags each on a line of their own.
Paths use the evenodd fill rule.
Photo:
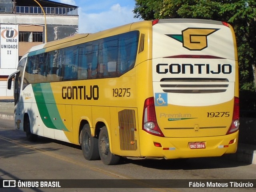
<svg viewBox="0 0 256 192">
<path fill-rule="evenodd" d="M 255 0 L 135 0 L 135 18 L 198 18 L 226 21 L 236 34 L 240 90 L 255 91 Z"/>
</svg>

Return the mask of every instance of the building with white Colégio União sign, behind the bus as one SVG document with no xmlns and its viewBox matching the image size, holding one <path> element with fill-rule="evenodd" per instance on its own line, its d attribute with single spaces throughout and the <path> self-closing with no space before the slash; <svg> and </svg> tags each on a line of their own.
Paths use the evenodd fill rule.
<svg viewBox="0 0 256 192">
<path fill-rule="evenodd" d="M 8 75 L 32 46 L 78 33 L 78 7 L 50 0 L 0 0 L 0 99 L 13 97 Z"/>
</svg>

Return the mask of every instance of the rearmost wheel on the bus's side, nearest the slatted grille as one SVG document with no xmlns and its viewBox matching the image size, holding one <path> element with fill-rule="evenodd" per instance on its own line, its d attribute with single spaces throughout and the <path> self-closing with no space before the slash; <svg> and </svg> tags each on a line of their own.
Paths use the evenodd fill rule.
<svg viewBox="0 0 256 192">
<path fill-rule="evenodd" d="M 99 153 L 102 162 L 106 165 L 118 164 L 120 156 L 110 152 L 108 130 L 106 126 L 102 127 L 99 135 Z"/>
</svg>

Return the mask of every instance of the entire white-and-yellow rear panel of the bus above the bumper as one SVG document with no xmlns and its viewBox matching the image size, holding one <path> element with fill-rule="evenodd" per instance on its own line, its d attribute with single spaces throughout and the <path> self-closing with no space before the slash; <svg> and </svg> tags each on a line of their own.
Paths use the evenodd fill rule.
<svg viewBox="0 0 256 192">
<path fill-rule="evenodd" d="M 226 135 L 238 73 L 232 30 L 222 22 L 189 21 L 153 26 L 157 122 L 165 137 Z"/>
</svg>

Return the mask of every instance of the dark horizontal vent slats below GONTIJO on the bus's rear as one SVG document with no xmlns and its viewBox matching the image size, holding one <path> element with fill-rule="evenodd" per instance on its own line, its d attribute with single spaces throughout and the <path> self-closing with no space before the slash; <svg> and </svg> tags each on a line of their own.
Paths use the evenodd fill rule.
<svg viewBox="0 0 256 192">
<path fill-rule="evenodd" d="M 166 93 L 222 93 L 228 84 L 228 79 L 213 78 L 164 78 L 160 82 Z"/>
</svg>

